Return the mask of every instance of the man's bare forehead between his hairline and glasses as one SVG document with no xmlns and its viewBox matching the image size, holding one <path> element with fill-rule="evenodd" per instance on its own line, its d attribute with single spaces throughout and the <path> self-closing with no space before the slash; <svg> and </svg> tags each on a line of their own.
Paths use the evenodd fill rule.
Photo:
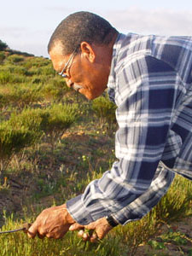
<svg viewBox="0 0 192 256">
<path fill-rule="evenodd" d="M 49 51 L 50 59 L 56 71 L 60 71 L 63 63 L 67 61 L 68 55 L 63 55 L 61 43 L 55 43 L 53 48 Z"/>
</svg>

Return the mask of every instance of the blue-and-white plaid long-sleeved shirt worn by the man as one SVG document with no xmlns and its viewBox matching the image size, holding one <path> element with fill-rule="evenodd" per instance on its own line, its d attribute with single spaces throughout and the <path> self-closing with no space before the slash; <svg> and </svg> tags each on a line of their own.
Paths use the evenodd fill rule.
<svg viewBox="0 0 192 256">
<path fill-rule="evenodd" d="M 192 178 L 192 38 L 119 34 L 108 94 L 116 103 L 118 161 L 67 209 L 79 224 L 142 218 L 175 172 Z"/>
</svg>

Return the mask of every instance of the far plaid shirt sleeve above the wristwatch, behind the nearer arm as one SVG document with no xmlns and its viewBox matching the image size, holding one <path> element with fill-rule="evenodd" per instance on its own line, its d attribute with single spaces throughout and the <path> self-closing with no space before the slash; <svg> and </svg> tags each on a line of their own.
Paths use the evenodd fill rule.
<svg viewBox="0 0 192 256">
<path fill-rule="evenodd" d="M 174 177 L 174 172 L 159 165 L 148 190 L 119 212 L 113 213 L 113 218 L 122 225 L 143 218 L 166 194 Z"/>
</svg>

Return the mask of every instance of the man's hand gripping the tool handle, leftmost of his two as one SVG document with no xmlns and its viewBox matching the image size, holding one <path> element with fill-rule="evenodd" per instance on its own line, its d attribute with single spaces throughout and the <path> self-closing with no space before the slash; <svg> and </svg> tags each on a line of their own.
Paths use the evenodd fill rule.
<svg viewBox="0 0 192 256">
<path fill-rule="evenodd" d="M 39 238 L 61 238 L 64 236 L 71 224 L 75 221 L 67 212 L 66 204 L 59 207 L 50 207 L 38 215 L 35 222 L 29 228 L 27 236 L 30 238 L 38 235 Z"/>
</svg>

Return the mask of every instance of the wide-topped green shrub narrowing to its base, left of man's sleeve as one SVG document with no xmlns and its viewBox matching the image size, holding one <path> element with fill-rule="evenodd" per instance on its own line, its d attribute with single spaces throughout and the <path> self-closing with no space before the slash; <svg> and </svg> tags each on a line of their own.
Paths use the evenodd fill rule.
<svg viewBox="0 0 192 256">
<path fill-rule="evenodd" d="M 54 149 L 56 140 L 78 117 L 78 105 L 53 104 L 46 109 L 24 109 L 20 114 L 12 113 L 9 124 L 12 127 L 25 127 L 30 131 L 44 132 Z"/>
</svg>

